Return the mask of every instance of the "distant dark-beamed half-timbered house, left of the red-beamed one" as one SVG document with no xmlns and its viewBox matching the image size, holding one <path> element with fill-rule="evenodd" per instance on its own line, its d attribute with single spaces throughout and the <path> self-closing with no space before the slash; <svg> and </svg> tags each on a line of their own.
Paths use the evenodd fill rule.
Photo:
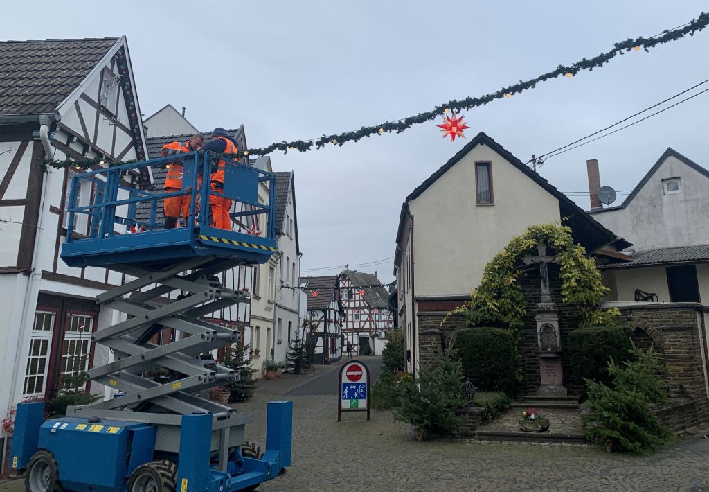
<svg viewBox="0 0 709 492">
<path fill-rule="evenodd" d="M 301 338 L 314 344 L 315 363 L 330 363 L 342 357 L 342 318 L 339 278 L 303 277 L 301 287 L 308 295 Z"/>
</svg>

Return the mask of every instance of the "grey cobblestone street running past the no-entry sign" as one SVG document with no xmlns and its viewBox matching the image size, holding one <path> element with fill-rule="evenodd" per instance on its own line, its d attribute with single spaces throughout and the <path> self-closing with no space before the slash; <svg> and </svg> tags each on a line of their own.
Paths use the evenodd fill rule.
<svg viewBox="0 0 709 492">
<path fill-rule="evenodd" d="M 363 360 L 377 371 L 378 359 Z M 294 401 L 293 464 L 259 490 L 709 491 L 709 439 L 701 436 L 634 457 L 586 445 L 415 442 L 391 413 L 376 410 L 369 422 L 364 413 L 337 422 L 339 366 L 264 382 L 238 405 L 254 415 L 247 439 L 263 446 L 267 401 Z M 286 394 L 277 395 L 279 388 Z M 20 481 L 0 484 L 0 491 L 21 490 Z"/>
</svg>

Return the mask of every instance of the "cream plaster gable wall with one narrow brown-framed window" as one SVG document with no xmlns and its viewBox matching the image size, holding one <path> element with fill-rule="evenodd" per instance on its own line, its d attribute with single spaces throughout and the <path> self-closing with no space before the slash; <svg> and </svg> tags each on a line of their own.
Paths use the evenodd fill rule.
<svg viewBox="0 0 709 492">
<path fill-rule="evenodd" d="M 491 162 L 494 205 L 476 205 L 476 160 Z M 560 219 L 559 201 L 488 146 L 473 148 L 409 207 L 416 297 L 469 295 L 513 236 Z"/>
</svg>

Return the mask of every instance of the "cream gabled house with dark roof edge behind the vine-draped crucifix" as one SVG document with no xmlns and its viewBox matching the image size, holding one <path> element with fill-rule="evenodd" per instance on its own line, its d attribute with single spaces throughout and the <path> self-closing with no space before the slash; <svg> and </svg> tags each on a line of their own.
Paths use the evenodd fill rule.
<svg viewBox="0 0 709 492">
<path fill-rule="evenodd" d="M 562 220 L 562 217 L 564 218 Z M 406 368 L 420 359 L 420 322 L 470 298 L 493 256 L 528 226 L 562 222 L 592 253 L 618 241 L 485 133 L 433 173 L 401 207 L 394 274 Z M 620 245 L 627 244 L 621 241 Z M 440 328 L 430 327 L 434 332 Z"/>
</svg>

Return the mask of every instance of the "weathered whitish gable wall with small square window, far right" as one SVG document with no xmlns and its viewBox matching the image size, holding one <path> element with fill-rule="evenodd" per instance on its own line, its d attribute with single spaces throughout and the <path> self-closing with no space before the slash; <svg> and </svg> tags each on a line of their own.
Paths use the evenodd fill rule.
<svg viewBox="0 0 709 492">
<path fill-rule="evenodd" d="M 664 195 L 662 180 L 680 177 L 682 192 Z M 591 217 L 635 251 L 709 244 L 709 177 L 670 155 L 624 209 Z"/>
</svg>

